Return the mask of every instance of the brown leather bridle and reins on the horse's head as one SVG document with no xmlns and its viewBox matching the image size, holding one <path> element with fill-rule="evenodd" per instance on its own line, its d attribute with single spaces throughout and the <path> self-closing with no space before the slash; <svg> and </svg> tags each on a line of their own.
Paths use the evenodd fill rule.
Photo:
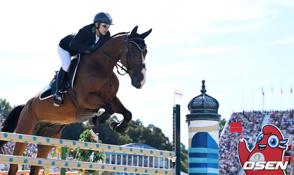
<svg viewBox="0 0 294 175">
<path fill-rule="evenodd" d="M 125 42 L 123 43 L 123 46 L 121 47 L 121 50 L 119 51 L 120 53 L 119 53 L 119 63 L 121 63 L 121 52 L 122 52 L 122 49 L 123 49 L 123 47 L 126 45 L 126 50 L 125 50 L 125 54 L 126 54 L 126 65 L 127 65 L 127 67 L 126 66 L 124 66 L 124 65 L 122 65 L 122 66 L 120 66 L 120 65 L 118 65 L 118 63 L 116 63 L 115 61 L 113 61 L 113 59 L 111 59 L 108 55 L 106 55 L 106 53 L 104 53 L 103 51 L 101 51 L 101 49 L 99 48 L 98 50 L 104 55 L 104 56 L 106 56 L 106 58 L 108 58 L 108 59 L 110 59 L 113 63 L 115 63 L 115 66 L 116 66 L 116 69 L 117 69 L 117 72 L 118 72 L 118 74 L 120 74 L 120 75 L 125 75 L 126 73 L 128 74 L 128 76 L 130 76 L 130 78 L 133 78 L 139 71 L 141 71 L 143 68 L 145 68 L 145 70 L 146 70 L 146 65 L 145 65 L 145 63 L 144 64 L 132 64 L 132 62 L 131 62 L 131 58 L 130 58 L 130 54 L 129 54 L 129 52 L 128 52 L 128 43 L 129 43 L 129 41 L 131 41 L 131 40 L 141 40 L 141 41 L 144 41 L 145 42 L 145 40 L 144 39 L 142 39 L 142 38 L 131 38 L 131 39 L 128 39 L 128 36 L 129 36 L 129 34 L 127 34 L 127 36 L 126 36 L 126 40 L 125 40 Z M 129 66 L 129 63 L 128 62 L 130 62 L 130 66 Z M 122 63 L 121 63 L 122 64 Z M 118 67 L 120 67 L 121 68 L 121 70 L 123 70 L 123 71 L 125 71 L 125 73 L 124 74 L 121 74 L 119 71 L 118 71 Z M 125 68 L 123 68 L 123 67 L 125 67 Z M 130 70 L 130 68 L 131 67 L 141 67 L 141 69 L 139 69 L 136 73 L 132 73 L 132 71 Z"/>
</svg>

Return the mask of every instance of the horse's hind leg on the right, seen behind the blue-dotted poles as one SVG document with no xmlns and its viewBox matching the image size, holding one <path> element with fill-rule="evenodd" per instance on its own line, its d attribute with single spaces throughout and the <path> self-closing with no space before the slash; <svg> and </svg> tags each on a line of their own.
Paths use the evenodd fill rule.
<svg viewBox="0 0 294 175">
<path fill-rule="evenodd" d="M 41 137 L 51 137 L 51 138 L 60 138 L 61 136 L 61 131 L 64 127 L 66 127 L 67 124 L 64 125 L 53 125 L 53 126 L 46 126 L 45 128 L 42 128 L 38 130 L 37 136 Z M 49 146 L 49 145 L 41 145 L 38 144 L 38 158 L 47 158 L 48 153 L 54 146 Z M 38 175 L 40 169 L 42 166 L 31 166 L 31 171 L 30 175 Z"/>
</svg>

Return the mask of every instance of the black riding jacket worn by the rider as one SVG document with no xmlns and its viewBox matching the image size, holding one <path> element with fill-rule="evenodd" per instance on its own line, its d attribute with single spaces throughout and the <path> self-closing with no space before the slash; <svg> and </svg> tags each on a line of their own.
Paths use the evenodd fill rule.
<svg viewBox="0 0 294 175">
<path fill-rule="evenodd" d="M 105 35 L 100 35 L 98 43 L 103 43 L 110 38 L 110 32 L 107 31 Z M 96 41 L 95 24 L 89 24 L 81 28 L 78 33 L 70 34 L 60 40 L 59 46 L 68 51 L 71 56 L 78 53 L 91 53 L 91 45 Z"/>
</svg>

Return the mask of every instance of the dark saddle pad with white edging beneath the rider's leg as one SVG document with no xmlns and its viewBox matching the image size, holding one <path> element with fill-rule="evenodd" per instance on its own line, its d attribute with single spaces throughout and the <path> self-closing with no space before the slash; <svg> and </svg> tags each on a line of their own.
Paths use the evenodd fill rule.
<svg viewBox="0 0 294 175">
<path fill-rule="evenodd" d="M 71 60 L 71 68 L 69 71 L 69 73 L 71 73 L 71 77 L 69 78 L 69 80 L 66 83 L 66 84 L 69 84 L 70 87 L 73 87 L 73 85 L 74 85 L 74 77 L 76 75 L 76 70 L 77 70 L 79 61 L 80 61 L 80 56 Z M 74 66 L 74 67 L 72 67 L 72 66 Z M 66 91 L 67 88 L 68 88 L 68 86 L 65 85 L 62 92 L 63 93 L 67 92 Z M 46 88 L 44 88 L 42 90 L 41 95 L 40 95 L 40 100 L 44 100 L 44 99 L 53 97 L 55 92 L 56 92 L 56 80 L 54 79 L 52 81 L 52 83 L 50 83 L 50 85 L 48 85 Z"/>
</svg>

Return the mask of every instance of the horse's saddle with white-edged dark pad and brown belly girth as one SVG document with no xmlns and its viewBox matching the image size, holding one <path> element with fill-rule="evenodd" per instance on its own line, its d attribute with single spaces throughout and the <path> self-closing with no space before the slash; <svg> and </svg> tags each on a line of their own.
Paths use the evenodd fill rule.
<svg viewBox="0 0 294 175">
<path fill-rule="evenodd" d="M 77 112 L 76 112 L 76 121 L 77 122 L 86 122 L 89 120 L 90 117 L 93 117 L 96 115 L 96 113 L 99 111 L 99 109 L 96 110 L 90 110 L 86 108 L 82 108 L 78 105 L 78 99 L 76 97 L 76 92 L 74 92 L 73 86 L 74 86 L 74 78 L 76 75 L 76 70 L 78 68 L 78 63 L 80 61 L 81 55 L 79 54 L 77 58 L 74 58 L 71 60 L 71 64 L 69 66 L 69 73 L 68 78 L 66 80 L 66 83 L 64 85 L 64 88 L 62 90 L 63 93 L 68 93 L 71 102 L 73 102 L 76 106 Z M 59 71 L 55 71 L 56 74 L 54 75 L 53 80 L 51 80 L 50 84 L 44 88 L 40 95 L 40 100 L 45 100 L 47 98 L 53 97 L 53 95 L 56 92 L 56 77 Z"/>
</svg>

